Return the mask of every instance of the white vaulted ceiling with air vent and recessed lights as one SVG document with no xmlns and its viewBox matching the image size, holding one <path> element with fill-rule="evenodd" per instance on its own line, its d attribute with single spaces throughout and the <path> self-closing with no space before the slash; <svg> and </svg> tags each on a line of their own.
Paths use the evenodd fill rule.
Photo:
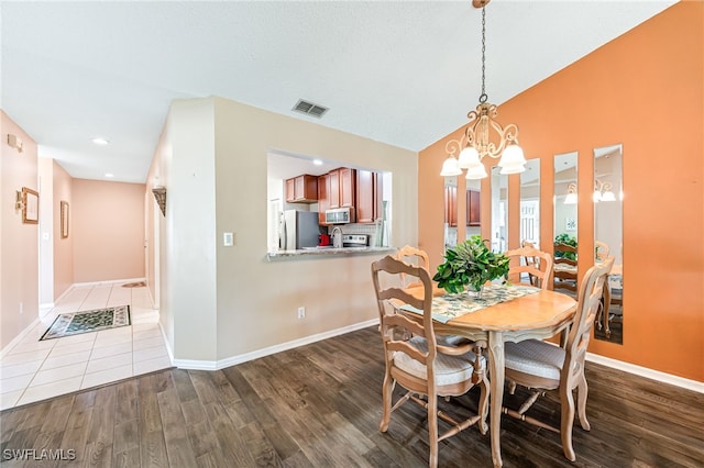
<svg viewBox="0 0 704 468">
<path fill-rule="evenodd" d="M 672 3 L 492 1 L 490 101 Z M 0 107 L 76 178 L 145 181 L 173 99 L 222 96 L 420 151 L 463 125 L 481 93 L 470 0 L 1 1 L 0 15 Z M 293 112 L 301 98 L 330 110 Z"/>
</svg>

